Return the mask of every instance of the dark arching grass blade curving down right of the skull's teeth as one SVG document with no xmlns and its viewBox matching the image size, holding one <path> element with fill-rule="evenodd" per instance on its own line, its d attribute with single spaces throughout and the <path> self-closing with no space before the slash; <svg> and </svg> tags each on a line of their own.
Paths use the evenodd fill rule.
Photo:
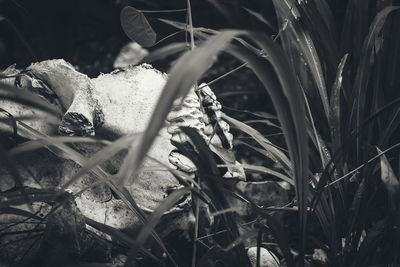
<svg viewBox="0 0 400 267">
<path fill-rule="evenodd" d="M 304 98 L 296 82 L 296 76 L 288 61 L 282 56 L 282 50 L 268 37 L 257 33 L 246 35 L 256 43 L 267 55 L 257 57 L 254 53 L 230 46 L 228 53 L 233 54 L 243 62 L 247 62 L 264 88 L 271 96 L 277 112 L 285 141 L 294 165 L 296 197 L 299 206 L 299 226 L 301 232 L 301 247 L 305 245 L 307 196 L 308 196 L 308 140 L 306 130 L 306 115 Z M 252 50 L 250 50 L 252 51 Z M 271 67 L 276 77 L 273 77 Z M 279 84 L 277 84 L 279 82 Z"/>
</svg>

